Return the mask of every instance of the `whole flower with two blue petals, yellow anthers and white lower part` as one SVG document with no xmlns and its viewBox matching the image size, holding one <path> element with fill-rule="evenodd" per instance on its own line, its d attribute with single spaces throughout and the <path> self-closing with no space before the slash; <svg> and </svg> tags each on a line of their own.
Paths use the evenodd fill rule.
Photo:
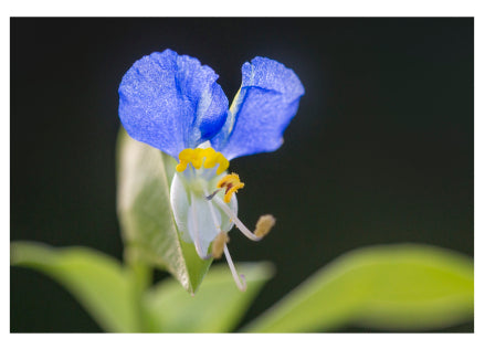
<svg viewBox="0 0 485 349">
<path fill-rule="evenodd" d="M 235 192 L 244 187 L 229 160 L 274 151 L 298 109 L 305 91 L 283 64 L 255 57 L 242 66 L 242 84 L 229 103 L 218 75 L 197 59 L 171 50 L 140 59 L 119 85 L 119 117 L 127 133 L 179 160 L 170 197 L 181 237 L 201 258 L 225 254 L 238 286 L 226 243 L 235 224 L 260 240 L 274 225 L 263 215 L 252 233 L 238 219 Z M 211 252 L 209 253 L 209 248 Z"/>
</svg>

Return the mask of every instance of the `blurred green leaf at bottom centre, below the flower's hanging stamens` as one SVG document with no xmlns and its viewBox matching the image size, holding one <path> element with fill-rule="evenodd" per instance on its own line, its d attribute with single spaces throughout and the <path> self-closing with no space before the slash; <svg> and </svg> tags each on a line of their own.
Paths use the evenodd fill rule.
<svg viewBox="0 0 485 349">
<path fill-rule="evenodd" d="M 183 292 L 173 279 L 167 279 L 146 295 L 146 309 L 152 318 L 152 331 L 165 332 L 226 332 L 239 320 L 273 275 L 268 263 L 241 263 L 247 282 L 245 292 L 239 290 L 225 265 L 215 265 L 205 276 L 194 296 Z"/>
</svg>

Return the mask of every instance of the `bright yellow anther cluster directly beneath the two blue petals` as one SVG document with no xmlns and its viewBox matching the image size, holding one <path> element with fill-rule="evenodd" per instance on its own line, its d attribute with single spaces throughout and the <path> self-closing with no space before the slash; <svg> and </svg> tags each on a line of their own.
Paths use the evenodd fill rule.
<svg viewBox="0 0 485 349">
<path fill-rule="evenodd" d="M 189 163 L 196 169 L 200 169 L 203 165 L 205 168 L 213 168 L 215 165 L 219 165 L 217 174 L 221 174 L 229 167 L 229 160 L 212 148 L 196 148 L 196 149 L 183 149 L 179 154 L 180 163 L 177 165 L 176 170 L 178 172 L 182 172 L 187 169 Z"/>
</svg>

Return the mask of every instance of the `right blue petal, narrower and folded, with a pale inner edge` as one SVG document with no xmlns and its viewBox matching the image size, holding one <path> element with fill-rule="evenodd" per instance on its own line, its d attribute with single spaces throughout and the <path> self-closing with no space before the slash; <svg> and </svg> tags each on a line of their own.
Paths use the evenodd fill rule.
<svg viewBox="0 0 485 349">
<path fill-rule="evenodd" d="M 242 66 L 241 88 L 228 119 L 212 146 L 228 159 L 274 151 L 295 116 L 305 89 L 296 74 L 283 64 L 255 57 Z"/>
</svg>

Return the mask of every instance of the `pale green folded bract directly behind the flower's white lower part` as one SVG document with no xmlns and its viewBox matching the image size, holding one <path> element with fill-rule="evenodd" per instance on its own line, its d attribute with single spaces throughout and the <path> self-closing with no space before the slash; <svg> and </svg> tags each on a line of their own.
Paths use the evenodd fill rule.
<svg viewBox="0 0 485 349">
<path fill-rule="evenodd" d="M 194 293 L 212 261 L 181 241 L 170 205 L 176 161 L 160 150 L 118 135 L 118 216 L 125 256 L 167 269 Z"/>
</svg>

